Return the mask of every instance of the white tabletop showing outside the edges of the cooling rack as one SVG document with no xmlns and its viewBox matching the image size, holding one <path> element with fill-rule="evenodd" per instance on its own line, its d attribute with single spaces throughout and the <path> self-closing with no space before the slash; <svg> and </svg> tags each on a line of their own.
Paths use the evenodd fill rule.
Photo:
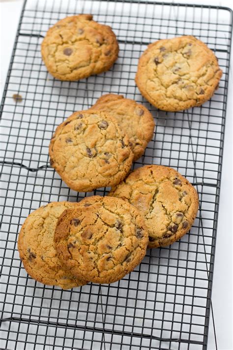
<svg viewBox="0 0 233 350">
<path fill-rule="evenodd" d="M 163 0 L 164 2 L 171 2 Z M 197 3 L 226 6 L 233 9 L 231 0 L 179 0 L 179 3 Z M 12 54 L 16 30 L 23 0 L 0 0 L 0 96 L 2 95 L 6 74 Z M 231 67 L 233 60 L 231 59 Z M 222 184 L 219 206 L 212 306 L 218 350 L 233 350 L 233 127 L 232 127 L 232 68 L 230 68 L 229 95 L 224 141 Z M 207 350 L 215 350 L 213 321 L 210 318 Z"/>
</svg>

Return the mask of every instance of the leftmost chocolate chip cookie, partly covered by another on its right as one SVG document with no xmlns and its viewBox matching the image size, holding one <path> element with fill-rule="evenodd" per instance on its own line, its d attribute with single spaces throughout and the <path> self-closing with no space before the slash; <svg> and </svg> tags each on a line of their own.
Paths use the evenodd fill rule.
<svg viewBox="0 0 233 350">
<path fill-rule="evenodd" d="M 33 211 L 25 220 L 18 239 L 18 250 L 25 270 L 36 281 L 69 289 L 86 285 L 75 277 L 58 259 L 54 232 L 61 213 L 78 203 L 52 202 Z"/>
</svg>

